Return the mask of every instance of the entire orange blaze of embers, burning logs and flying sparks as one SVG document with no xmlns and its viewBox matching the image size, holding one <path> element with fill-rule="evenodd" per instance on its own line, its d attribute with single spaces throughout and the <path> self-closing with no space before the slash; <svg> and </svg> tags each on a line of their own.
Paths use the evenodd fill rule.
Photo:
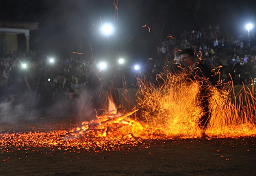
<svg viewBox="0 0 256 176">
<path fill-rule="evenodd" d="M 167 71 L 158 75 L 158 86 L 139 80 L 140 121 L 135 120 L 134 115 L 138 109 L 118 112 L 113 98 L 109 97 L 108 111 L 70 130 L 2 132 L 0 150 L 47 147 L 102 152 L 122 150 L 127 146 L 148 147 L 152 140 L 202 137 L 198 127 L 202 109 L 197 102 L 200 84 L 188 83 L 185 79 L 184 73 Z M 228 85 L 222 89 L 210 88 L 211 119 L 205 131 L 209 138 L 256 136 L 254 90 L 254 87 L 244 86 L 234 95 L 234 87 L 228 89 Z"/>
</svg>

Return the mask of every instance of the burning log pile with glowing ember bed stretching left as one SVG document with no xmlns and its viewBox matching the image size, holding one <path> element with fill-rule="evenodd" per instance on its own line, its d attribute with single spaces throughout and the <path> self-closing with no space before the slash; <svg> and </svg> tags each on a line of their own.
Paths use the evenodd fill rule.
<svg viewBox="0 0 256 176">
<path fill-rule="evenodd" d="M 0 149 L 8 152 L 8 148 L 20 150 L 47 147 L 49 149 L 71 150 L 73 147 L 88 152 L 117 151 L 124 149 L 124 145 L 147 147 L 144 140 L 164 139 L 165 134 L 152 129 L 146 123 L 130 118 L 138 111 L 134 109 L 126 114 L 117 113 L 111 97 L 109 111 L 98 115 L 96 120 L 83 122 L 76 129 L 29 132 L 6 132 L 0 134 Z"/>
</svg>

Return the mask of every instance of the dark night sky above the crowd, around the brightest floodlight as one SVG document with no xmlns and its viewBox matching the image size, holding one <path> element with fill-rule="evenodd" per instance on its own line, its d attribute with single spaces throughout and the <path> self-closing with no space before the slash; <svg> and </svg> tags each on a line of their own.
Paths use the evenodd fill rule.
<svg viewBox="0 0 256 176">
<path fill-rule="evenodd" d="M 31 49 L 60 54 L 70 51 L 95 57 L 111 51 L 147 58 L 168 35 L 220 25 L 224 33 L 246 34 L 245 23 L 255 23 L 255 0 L 1 0 L 0 20 L 38 22 L 31 31 Z M 100 33 L 101 20 L 111 22 L 115 33 Z M 150 26 L 149 33 L 147 24 Z M 254 31 L 252 31 L 254 32 Z M 133 37 L 133 38 L 132 38 Z M 131 39 L 132 38 L 132 39 Z M 131 39 L 131 40 L 129 40 Z"/>
</svg>

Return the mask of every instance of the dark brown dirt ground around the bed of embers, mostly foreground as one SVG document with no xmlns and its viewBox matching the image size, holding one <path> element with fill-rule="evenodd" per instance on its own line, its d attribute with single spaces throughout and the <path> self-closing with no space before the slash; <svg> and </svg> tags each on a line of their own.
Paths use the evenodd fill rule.
<svg viewBox="0 0 256 176">
<path fill-rule="evenodd" d="M 0 123 L 0 132 L 58 127 L 72 120 Z M 47 124 L 47 125 L 46 125 Z M 71 124 L 72 125 L 72 124 Z M 60 127 L 61 125 L 59 125 Z M 0 153 L 1 176 L 255 176 L 256 137 L 151 141 L 148 148 L 89 153 L 47 148 Z M 1 145 L 1 144 L 0 144 Z"/>
</svg>

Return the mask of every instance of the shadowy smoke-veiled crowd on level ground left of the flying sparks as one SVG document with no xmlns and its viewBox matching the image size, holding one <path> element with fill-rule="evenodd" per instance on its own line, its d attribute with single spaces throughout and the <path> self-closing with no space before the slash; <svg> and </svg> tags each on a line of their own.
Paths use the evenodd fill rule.
<svg viewBox="0 0 256 176">
<path fill-rule="evenodd" d="M 109 91 L 136 87 L 138 72 L 125 65 L 109 64 L 107 70 L 101 70 L 98 61 L 82 54 L 50 59 L 39 50 L 1 56 L 2 119 L 43 119 L 53 112 L 59 118 L 81 116 L 85 120 L 87 116 L 90 120 L 95 109 L 103 112 Z"/>
</svg>

